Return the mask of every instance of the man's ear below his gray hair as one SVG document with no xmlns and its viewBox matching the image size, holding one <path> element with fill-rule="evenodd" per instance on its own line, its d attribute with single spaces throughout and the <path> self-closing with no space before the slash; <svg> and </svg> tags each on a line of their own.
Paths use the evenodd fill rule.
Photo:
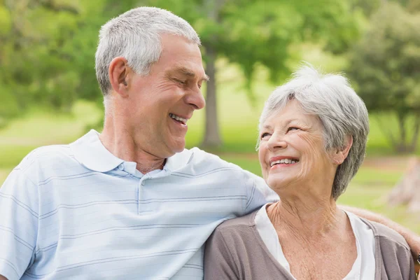
<svg viewBox="0 0 420 280">
<path fill-rule="evenodd" d="M 127 59 L 116 57 L 109 64 L 109 81 L 114 92 L 126 97 L 128 92 L 128 73 L 130 72 Z"/>
</svg>

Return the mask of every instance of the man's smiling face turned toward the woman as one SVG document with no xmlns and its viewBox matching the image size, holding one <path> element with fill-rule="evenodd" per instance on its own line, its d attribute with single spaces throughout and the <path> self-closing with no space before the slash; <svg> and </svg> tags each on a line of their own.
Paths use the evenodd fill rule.
<svg viewBox="0 0 420 280">
<path fill-rule="evenodd" d="M 127 127 L 139 148 L 158 158 L 183 151 L 187 122 L 205 105 L 204 80 L 198 45 L 163 34 L 160 59 L 148 76 L 134 74 L 129 87 Z"/>
</svg>

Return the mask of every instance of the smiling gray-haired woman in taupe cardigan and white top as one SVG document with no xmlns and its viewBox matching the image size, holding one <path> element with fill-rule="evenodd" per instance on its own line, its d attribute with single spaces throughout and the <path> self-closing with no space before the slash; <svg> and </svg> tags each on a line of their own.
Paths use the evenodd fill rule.
<svg viewBox="0 0 420 280">
<path fill-rule="evenodd" d="M 336 205 L 363 162 L 365 104 L 342 76 L 293 77 L 260 118 L 262 175 L 281 200 L 216 228 L 205 279 L 415 279 L 405 239 Z"/>
</svg>

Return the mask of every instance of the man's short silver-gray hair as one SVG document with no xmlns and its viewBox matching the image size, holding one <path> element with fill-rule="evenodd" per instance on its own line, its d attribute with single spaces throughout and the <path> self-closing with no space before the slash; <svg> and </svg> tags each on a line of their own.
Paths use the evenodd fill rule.
<svg viewBox="0 0 420 280">
<path fill-rule="evenodd" d="M 134 72 L 148 75 L 162 52 L 161 34 L 182 36 L 201 45 L 197 32 L 186 20 L 161 8 L 134 8 L 101 27 L 95 70 L 104 96 L 111 90 L 108 69 L 112 59 L 125 57 Z"/>
</svg>

